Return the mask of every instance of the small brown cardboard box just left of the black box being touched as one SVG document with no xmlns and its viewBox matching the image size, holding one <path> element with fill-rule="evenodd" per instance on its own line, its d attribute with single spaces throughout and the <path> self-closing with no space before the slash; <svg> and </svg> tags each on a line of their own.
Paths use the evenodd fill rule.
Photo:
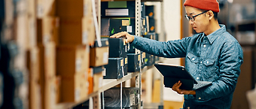
<svg viewBox="0 0 256 109">
<path fill-rule="evenodd" d="M 108 64 L 108 47 L 90 48 L 90 67 Z"/>
</svg>

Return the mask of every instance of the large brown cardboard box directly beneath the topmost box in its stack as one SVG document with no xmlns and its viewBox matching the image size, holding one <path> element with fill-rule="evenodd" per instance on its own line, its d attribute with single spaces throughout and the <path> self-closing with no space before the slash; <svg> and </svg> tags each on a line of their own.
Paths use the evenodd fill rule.
<svg viewBox="0 0 256 109">
<path fill-rule="evenodd" d="M 60 18 L 60 44 L 85 45 L 94 43 L 95 28 L 92 17 Z"/>
</svg>

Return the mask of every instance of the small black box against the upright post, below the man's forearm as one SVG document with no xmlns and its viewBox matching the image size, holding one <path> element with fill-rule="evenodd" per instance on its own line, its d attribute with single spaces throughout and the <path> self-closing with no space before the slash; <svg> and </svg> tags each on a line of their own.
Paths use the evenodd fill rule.
<svg viewBox="0 0 256 109">
<path fill-rule="evenodd" d="M 128 72 L 138 72 L 140 70 L 140 54 L 129 53 L 128 58 Z"/>
</svg>

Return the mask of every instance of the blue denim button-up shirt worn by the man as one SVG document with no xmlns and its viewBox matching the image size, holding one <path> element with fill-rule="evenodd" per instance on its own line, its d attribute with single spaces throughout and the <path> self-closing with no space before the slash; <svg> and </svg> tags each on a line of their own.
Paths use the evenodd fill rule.
<svg viewBox="0 0 256 109">
<path fill-rule="evenodd" d="M 230 108 L 236 88 L 242 48 L 226 31 L 225 25 L 208 36 L 194 34 L 181 40 L 159 42 L 134 37 L 132 45 L 138 50 L 164 58 L 185 58 L 185 67 L 196 80 L 212 81 L 212 85 L 185 95 L 183 108 Z"/>
</svg>

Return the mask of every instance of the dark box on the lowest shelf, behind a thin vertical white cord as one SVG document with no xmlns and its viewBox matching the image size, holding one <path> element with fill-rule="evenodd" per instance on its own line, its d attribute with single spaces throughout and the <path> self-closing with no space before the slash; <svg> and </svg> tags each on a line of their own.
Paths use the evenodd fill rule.
<svg viewBox="0 0 256 109">
<path fill-rule="evenodd" d="M 120 108 L 120 88 L 111 88 L 104 92 L 106 109 Z M 138 105 L 139 88 L 122 88 L 122 108 L 130 108 Z"/>
</svg>

